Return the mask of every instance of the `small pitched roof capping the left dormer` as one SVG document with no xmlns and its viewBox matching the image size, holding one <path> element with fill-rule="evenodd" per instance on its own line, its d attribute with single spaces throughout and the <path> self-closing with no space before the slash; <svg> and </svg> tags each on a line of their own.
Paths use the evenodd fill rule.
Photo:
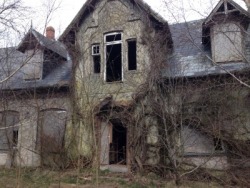
<svg viewBox="0 0 250 188">
<path fill-rule="evenodd" d="M 29 30 L 29 32 L 25 35 L 21 43 L 18 45 L 17 50 L 21 52 L 25 51 L 26 45 L 30 42 L 29 38 L 31 35 L 35 37 L 35 39 L 41 46 L 57 53 L 58 55 L 60 55 L 61 57 L 65 59 L 68 58 L 68 55 L 67 55 L 68 52 L 65 46 L 61 42 L 56 41 L 56 40 L 51 40 L 32 28 Z"/>
</svg>

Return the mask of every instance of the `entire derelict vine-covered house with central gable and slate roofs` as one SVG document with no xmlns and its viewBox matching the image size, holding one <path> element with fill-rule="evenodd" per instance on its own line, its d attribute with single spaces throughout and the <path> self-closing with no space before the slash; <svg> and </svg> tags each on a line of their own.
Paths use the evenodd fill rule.
<svg viewBox="0 0 250 188">
<path fill-rule="evenodd" d="M 250 139 L 249 23 L 232 0 L 173 25 L 142 0 L 88 0 L 58 41 L 31 28 L 1 49 L 0 164 L 229 168 Z"/>
</svg>

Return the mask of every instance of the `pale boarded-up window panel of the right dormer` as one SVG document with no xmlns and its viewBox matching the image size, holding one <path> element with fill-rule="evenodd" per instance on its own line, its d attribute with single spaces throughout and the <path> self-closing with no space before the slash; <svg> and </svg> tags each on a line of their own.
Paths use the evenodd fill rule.
<svg viewBox="0 0 250 188">
<path fill-rule="evenodd" d="M 211 32 L 212 55 L 216 63 L 243 60 L 242 33 L 237 24 L 217 24 Z"/>
</svg>

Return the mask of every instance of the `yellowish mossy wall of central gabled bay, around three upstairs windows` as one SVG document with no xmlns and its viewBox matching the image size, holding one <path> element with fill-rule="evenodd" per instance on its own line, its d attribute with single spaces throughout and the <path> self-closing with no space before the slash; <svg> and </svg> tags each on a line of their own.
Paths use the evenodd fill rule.
<svg viewBox="0 0 250 188">
<path fill-rule="evenodd" d="M 83 18 L 76 34 L 79 45 L 77 67 L 75 71 L 77 111 L 81 111 L 83 121 L 80 122 L 80 145 L 82 153 L 90 156 L 93 147 L 93 109 L 101 100 L 112 96 L 120 104 L 128 104 L 139 85 L 145 82 L 148 76 L 150 60 L 149 46 L 146 35 L 154 37 L 155 30 L 148 31 L 147 16 L 129 1 L 99 1 L 93 12 Z M 110 32 L 122 33 L 122 70 L 123 79 L 119 82 L 105 81 L 105 44 L 104 36 Z M 128 70 L 129 39 L 136 40 L 137 70 Z M 91 46 L 100 44 L 101 71 L 93 73 L 93 57 Z M 166 55 L 167 53 L 165 53 Z"/>
</svg>

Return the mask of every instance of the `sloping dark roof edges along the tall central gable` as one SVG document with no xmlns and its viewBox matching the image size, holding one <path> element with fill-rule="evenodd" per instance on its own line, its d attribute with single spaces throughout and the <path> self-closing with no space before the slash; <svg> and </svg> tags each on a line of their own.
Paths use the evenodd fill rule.
<svg viewBox="0 0 250 188">
<path fill-rule="evenodd" d="M 143 10 L 147 14 L 151 15 L 158 22 L 167 25 L 167 21 L 161 15 L 159 15 L 154 10 L 152 10 L 151 7 L 148 4 L 146 4 L 143 0 L 130 0 L 130 1 L 133 1 L 141 10 Z M 80 9 L 80 11 L 75 16 L 75 18 L 72 20 L 72 22 L 69 24 L 69 26 L 65 29 L 63 34 L 59 37 L 59 40 L 63 40 L 72 29 L 77 28 L 77 26 L 79 26 L 78 24 L 79 24 L 80 20 L 82 19 L 84 13 L 86 11 L 93 10 L 94 4 L 96 2 L 97 2 L 97 0 L 87 0 L 84 3 L 84 5 Z"/>
</svg>

